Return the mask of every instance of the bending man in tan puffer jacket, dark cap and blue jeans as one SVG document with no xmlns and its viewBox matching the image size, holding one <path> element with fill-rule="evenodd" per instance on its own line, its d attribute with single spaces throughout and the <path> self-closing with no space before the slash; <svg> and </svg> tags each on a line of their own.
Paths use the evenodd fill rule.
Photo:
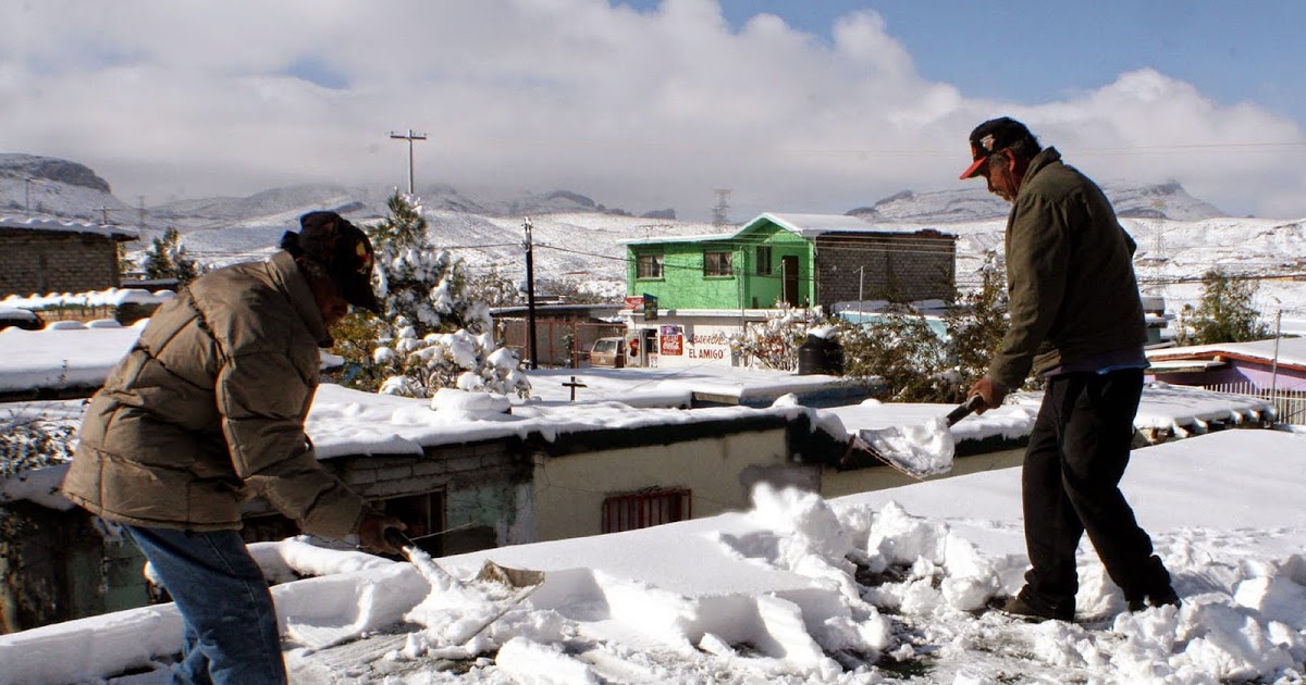
<svg viewBox="0 0 1306 685">
<path fill-rule="evenodd" d="M 184 682 L 285 682 L 272 594 L 240 540 L 240 505 L 268 498 L 306 532 L 396 552 L 394 518 L 317 463 L 304 419 L 329 329 L 372 294 L 372 247 L 332 211 L 282 252 L 197 278 L 161 307 L 90 402 L 68 498 L 121 523 L 184 626 Z"/>
</svg>

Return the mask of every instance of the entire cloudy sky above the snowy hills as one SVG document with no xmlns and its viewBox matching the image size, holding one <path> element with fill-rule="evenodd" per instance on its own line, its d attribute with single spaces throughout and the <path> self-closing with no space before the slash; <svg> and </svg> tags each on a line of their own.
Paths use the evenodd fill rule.
<svg viewBox="0 0 1306 685">
<path fill-rule="evenodd" d="M 0 151 L 128 204 L 302 183 L 842 213 L 1011 115 L 1100 181 L 1306 217 L 1306 4 L 10 0 Z M 972 181 L 982 183 L 982 181 Z"/>
</svg>

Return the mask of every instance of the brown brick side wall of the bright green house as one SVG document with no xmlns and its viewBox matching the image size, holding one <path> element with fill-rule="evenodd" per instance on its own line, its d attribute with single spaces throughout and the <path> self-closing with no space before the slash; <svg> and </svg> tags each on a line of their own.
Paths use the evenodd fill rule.
<svg viewBox="0 0 1306 685">
<path fill-rule="evenodd" d="M 831 232 L 816 237 L 816 304 L 951 299 L 957 239 L 914 234 Z"/>
</svg>

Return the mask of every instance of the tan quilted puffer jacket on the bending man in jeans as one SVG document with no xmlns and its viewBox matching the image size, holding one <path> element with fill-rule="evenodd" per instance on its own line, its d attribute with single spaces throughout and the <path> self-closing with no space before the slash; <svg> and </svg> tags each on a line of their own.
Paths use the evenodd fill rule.
<svg viewBox="0 0 1306 685">
<path fill-rule="evenodd" d="M 266 497 L 343 538 L 366 504 L 317 463 L 304 419 L 330 344 L 286 252 L 205 274 L 150 317 L 90 402 L 63 492 L 133 526 L 240 528 Z"/>
</svg>

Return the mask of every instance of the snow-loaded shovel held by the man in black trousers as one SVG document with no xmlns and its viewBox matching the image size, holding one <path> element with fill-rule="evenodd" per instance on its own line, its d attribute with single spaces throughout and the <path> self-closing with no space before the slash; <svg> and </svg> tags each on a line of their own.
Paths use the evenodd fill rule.
<svg viewBox="0 0 1306 685">
<path fill-rule="evenodd" d="M 934 419 L 913 428 L 862 429 L 848 444 L 840 462 L 841 468 L 870 466 L 863 455 L 892 466 L 917 480 L 952 471 L 956 444 L 948 428 L 969 416 L 983 402 L 974 395 L 942 419 Z"/>
</svg>

